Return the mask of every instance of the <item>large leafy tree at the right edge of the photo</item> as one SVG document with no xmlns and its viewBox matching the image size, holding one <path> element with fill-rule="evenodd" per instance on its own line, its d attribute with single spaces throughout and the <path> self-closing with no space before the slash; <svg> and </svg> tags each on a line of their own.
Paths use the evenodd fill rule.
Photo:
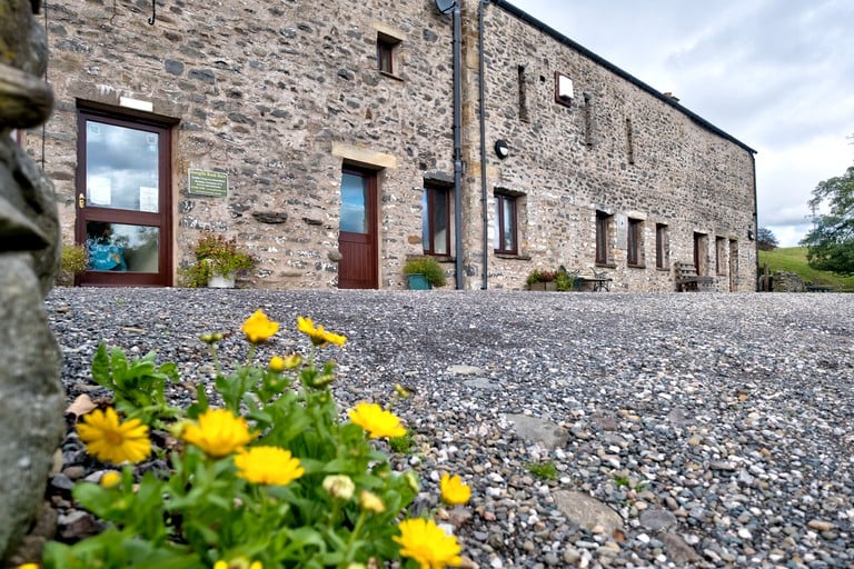
<svg viewBox="0 0 854 569">
<path fill-rule="evenodd" d="M 801 241 L 814 269 L 842 276 L 854 274 L 854 166 L 813 190 L 813 211 L 826 206 L 828 212 L 814 216 L 815 227 Z"/>
</svg>

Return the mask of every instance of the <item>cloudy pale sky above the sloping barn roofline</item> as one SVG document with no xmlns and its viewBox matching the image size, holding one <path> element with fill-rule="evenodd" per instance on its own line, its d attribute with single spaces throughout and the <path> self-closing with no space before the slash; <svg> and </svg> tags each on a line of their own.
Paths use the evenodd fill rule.
<svg viewBox="0 0 854 569">
<path fill-rule="evenodd" d="M 509 0 L 756 150 L 758 224 L 811 228 L 854 166 L 852 0 Z"/>
</svg>

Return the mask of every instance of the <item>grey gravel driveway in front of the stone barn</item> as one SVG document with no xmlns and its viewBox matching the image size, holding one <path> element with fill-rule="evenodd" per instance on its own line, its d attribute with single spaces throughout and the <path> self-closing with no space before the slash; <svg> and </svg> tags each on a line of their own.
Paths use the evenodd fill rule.
<svg viewBox="0 0 854 569">
<path fill-rule="evenodd" d="M 854 567 L 854 296 L 57 289 L 69 398 L 100 340 L 208 377 L 198 335 L 257 308 L 347 336 L 347 406 L 396 407 L 429 505 L 440 472 L 473 499 L 444 520 L 469 566 Z M 176 401 L 189 391 L 176 386 Z M 546 479 L 532 465 L 556 467 Z M 547 470 L 547 468 L 545 469 Z"/>
</svg>

